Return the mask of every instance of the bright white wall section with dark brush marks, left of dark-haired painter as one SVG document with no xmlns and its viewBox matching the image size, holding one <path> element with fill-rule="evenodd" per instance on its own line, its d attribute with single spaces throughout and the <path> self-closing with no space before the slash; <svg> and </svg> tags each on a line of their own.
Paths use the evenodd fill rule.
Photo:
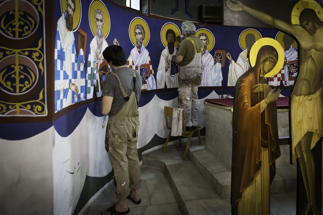
<svg viewBox="0 0 323 215">
<path fill-rule="evenodd" d="M 54 213 L 72 214 L 86 175 L 103 177 L 111 171 L 104 147 L 103 117 L 89 109 L 78 127 L 68 136 L 55 131 L 53 147 Z"/>
</svg>

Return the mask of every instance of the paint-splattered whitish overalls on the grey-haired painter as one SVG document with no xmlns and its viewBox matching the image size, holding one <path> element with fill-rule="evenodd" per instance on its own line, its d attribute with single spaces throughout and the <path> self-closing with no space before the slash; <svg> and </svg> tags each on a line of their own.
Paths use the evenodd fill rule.
<svg viewBox="0 0 323 215">
<path fill-rule="evenodd" d="M 193 43 L 195 55 L 191 63 L 178 67 L 178 107 L 184 109 L 185 126 L 197 126 L 197 88 L 202 80 L 202 51 L 197 52 L 196 45 L 191 38 L 186 38 Z"/>
</svg>

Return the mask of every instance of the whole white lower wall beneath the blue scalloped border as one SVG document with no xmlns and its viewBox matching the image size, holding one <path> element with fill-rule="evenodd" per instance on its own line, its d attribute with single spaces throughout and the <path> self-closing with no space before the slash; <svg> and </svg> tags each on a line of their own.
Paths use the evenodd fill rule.
<svg viewBox="0 0 323 215">
<path fill-rule="evenodd" d="M 205 127 L 203 102 L 206 98 L 215 97 L 217 94 L 213 91 L 198 100 L 199 125 L 202 128 Z M 177 107 L 177 97 L 167 101 L 155 95 L 148 104 L 139 108 L 137 148 L 146 146 L 155 134 L 167 137 L 164 106 Z M 112 170 L 104 145 L 106 126 L 102 128 L 102 122 L 103 117 L 96 117 L 87 109 L 68 137 L 61 137 L 51 127 L 24 140 L 1 139 L 0 214 L 21 211 L 25 214 L 73 214 L 86 177 L 105 177 Z M 146 152 L 161 146 L 152 146 Z M 111 184 L 110 181 L 103 188 Z M 92 198 L 89 197 L 80 214 L 103 190 L 101 188 Z"/>
</svg>

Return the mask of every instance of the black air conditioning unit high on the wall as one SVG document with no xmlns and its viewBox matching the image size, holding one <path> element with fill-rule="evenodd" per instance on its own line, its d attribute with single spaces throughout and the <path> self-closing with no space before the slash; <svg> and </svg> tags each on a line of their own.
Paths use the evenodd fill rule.
<svg viewBox="0 0 323 215">
<path fill-rule="evenodd" d="M 223 24 L 223 8 L 215 5 L 200 5 L 199 6 L 199 22 L 215 25 Z"/>
</svg>

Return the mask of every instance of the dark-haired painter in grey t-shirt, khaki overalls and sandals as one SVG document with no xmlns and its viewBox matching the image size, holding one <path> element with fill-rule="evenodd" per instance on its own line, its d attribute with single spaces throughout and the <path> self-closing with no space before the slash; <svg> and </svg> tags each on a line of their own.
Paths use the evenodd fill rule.
<svg viewBox="0 0 323 215">
<path fill-rule="evenodd" d="M 125 65 L 126 54 L 121 46 L 108 46 L 103 56 L 114 71 L 104 81 L 101 112 L 109 116 L 106 148 L 114 170 L 118 202 L 102 214 L 122 215 L 130 212 L 127 198 L 135 204 L 141 202 L 137 141 L 142 80 L 137 71 Z"/>
</svg>

